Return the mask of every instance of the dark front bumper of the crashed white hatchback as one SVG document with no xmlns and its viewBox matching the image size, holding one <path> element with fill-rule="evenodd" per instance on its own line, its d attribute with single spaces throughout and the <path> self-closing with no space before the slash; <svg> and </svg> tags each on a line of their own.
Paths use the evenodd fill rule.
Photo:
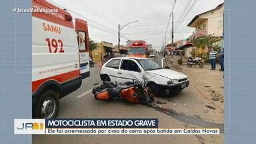
<svg viewBox="0 0 256 144">
<path fill-rule="evenodd" d="M 171 95 L 177 91 L 181 91 L 186 87 L 189 87 L 189 80 L 183 81 L 177 84 L 172 84 L 172 85 L 161 85 L 161 84 L 157 84 L 157 85 L 159 87 L 159 95 L 166 96 L 166 95 Z"/>
</svg>

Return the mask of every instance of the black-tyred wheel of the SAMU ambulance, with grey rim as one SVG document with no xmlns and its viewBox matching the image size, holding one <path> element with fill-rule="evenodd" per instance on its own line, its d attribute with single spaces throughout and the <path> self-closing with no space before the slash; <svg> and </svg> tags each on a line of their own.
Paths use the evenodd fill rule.
<svg viewBox="0 0 256 144">
<path fill-rule="evenodd" d="M 37 119 L 52 119 L 57 116 L 59 111 L 59 99 L 56 91 L 44 91 L 39 97 L 36 118 Z"/>
</svg>

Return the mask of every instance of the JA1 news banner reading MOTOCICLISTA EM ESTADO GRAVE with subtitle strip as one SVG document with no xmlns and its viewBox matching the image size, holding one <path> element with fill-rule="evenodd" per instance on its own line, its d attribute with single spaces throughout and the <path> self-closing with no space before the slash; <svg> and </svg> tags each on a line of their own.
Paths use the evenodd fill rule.
<svg viewBox="0 0 256 144">
<path fill-rule="evenodd" d="M 160 129 L 158 119 L 14 119 L 15 134 L 45 135 L 204 135 L 219 129 Z"/>
</svg>

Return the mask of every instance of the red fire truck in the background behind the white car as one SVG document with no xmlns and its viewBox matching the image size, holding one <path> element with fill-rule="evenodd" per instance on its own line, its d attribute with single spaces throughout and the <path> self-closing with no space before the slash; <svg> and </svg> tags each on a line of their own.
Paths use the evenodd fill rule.
<svg viewBox="0 0 256 144">
<path fill-rule="evenodd" d="M 133 41 L 128 45 L 128 57 L 149 57 L 149 49 L 145 41 Z"/>
</svg>

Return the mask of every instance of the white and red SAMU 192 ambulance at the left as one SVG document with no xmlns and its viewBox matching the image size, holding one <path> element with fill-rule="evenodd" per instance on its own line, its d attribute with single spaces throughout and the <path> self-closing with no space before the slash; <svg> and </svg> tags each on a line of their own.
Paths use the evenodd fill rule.
<svg viewBox="0 0 256 144">
<path fill-rule="evenodd" d="M 32 13 L 32 116 L 57 116 L 59 99 L 77 90 L 89 77 L 87 22 L 45 0 L 33 0 Z"/>
</svg>

